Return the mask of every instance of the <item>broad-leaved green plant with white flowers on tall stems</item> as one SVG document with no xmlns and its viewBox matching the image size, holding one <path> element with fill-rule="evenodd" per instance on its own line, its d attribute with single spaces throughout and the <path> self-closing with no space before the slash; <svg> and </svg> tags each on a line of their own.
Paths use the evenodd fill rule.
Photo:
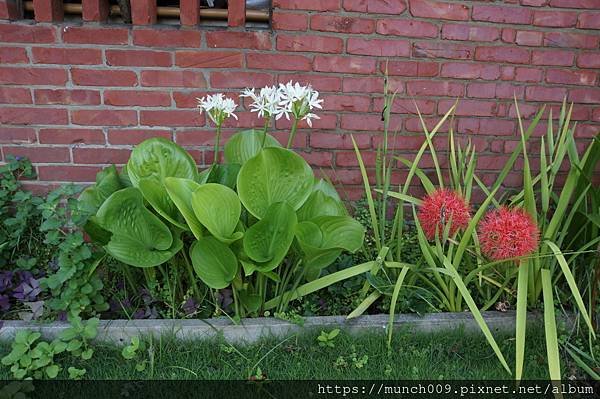
<svg viewBox="0 0 600 399">
<path fill-rule="evenodd" d="M 306 118 L 318 105 L 312 89 L 284 93 L 282 110 L 263 117 L 287 111 Z M 200 107 L 217 126 L 218 143 L 235 103 L 216 95 L 201 99 Z M 184 265 L 186 279 L 174 284 L 198 290 L 197 276 L 213 293 L 230 288 L 238 317 L 282 310 L 315 284 L 338 281 L 339 275 L 319 279 L 321 271 L 342 251 L 360 248 L 364 229 L 348 216 L 334 187 L 315 178 L 306 161 L 266 129 L 233 135 L 224 162 L 218 162 L 219 150 L 216 145 L 215 163 L 198 171 L 190 154 L 171 141 L 139 144 L 122 171 L 103 170 L 80 197 L 89 236 L 114 258 L 144 268 L 149 279 L 156 278 L 155 269 L 166 275 L 165 267 Z M 181 262 L 170 262 L 175 258 Z"/>
</svg>

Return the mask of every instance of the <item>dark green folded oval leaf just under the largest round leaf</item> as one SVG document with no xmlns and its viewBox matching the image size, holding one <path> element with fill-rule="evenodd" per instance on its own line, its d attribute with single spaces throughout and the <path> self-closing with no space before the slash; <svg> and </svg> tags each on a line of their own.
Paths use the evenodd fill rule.
<svg viewBox="0 0 600 399">
<path fill-rule="evenodd" d="M 296 228 L 296 213 L 285 202 L 273 204 L 262 220 L 250 227 L 244 236 L 244 252 L 255 262 L 256 269 L 268 272 L 287 255 Z"/>
</svg>

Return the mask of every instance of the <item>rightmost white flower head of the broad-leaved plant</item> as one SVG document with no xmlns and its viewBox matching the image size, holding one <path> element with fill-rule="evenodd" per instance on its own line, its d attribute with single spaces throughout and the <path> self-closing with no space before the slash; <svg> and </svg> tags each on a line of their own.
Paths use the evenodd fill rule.
<svg viewBox="0 0 600 399">
<path fill-rule="evenodd" d="M 319 99 L 319 92 L 310 85 L 301 86 L 300 83 L 288 82 L 285 85 L 279 84 L 281 100 L 279 105 L 282 108 L 281 113 L 287 119 L 289 114 L 293 114 L 296 119 L 306 120 L 309 126 L 312 126 L 310 119 L 319 119 L 317 115 L 311 113 L 314 108 L 321 109 L 323 100 Z"/>
</svg>

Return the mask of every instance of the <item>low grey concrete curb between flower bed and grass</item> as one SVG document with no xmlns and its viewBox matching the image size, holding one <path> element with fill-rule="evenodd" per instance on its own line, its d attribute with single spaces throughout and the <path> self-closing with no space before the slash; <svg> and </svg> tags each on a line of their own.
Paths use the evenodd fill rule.
<svg viewBox="0 0 600 399">
<path fill-rule="evenodd" d="M 483 317 L 492 332 L 512 332 L 515 328 L 514 312 L 483 312 Z M 532 316 L 530 315 L 529 320 Z M 98 327 L 96 341 L 124 344 L 134 336 L 172 336 L 178 339 L 207 339 L 222 335 L 229 342 L 255 342 L 264 337 L 287 337 L 303 330 L 330 330 L 340 328 L 352 334 L 381 331 L 387 328 L 388 315 L 365 315 L 347 320 L 345 316 L 318 316 L 304 318 L 304 326 L 299 326 L 275 318 L 243 319 L 233 324 L 227 318 L 206 320 L 102 320 Z M 55 338 L 69 324 L 54 322 L 48 324 L 9 320 L 0 328 L 0 341 L 10 341 L 19 330 L 39 331 L 46 339 Z M 397 315 L 395 328 L 408 328 L 415 332 L 436 332 L 464 328 L 465 331 L 479 331 L 479 326 L 469 312 L 430 313 Z"/>
</svg>

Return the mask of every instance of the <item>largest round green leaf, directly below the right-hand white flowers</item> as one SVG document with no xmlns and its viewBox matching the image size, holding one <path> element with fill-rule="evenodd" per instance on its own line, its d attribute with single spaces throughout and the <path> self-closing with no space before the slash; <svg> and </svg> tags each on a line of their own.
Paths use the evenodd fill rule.
<svg viewBox="0 0 600 399">
<path fill-rule="evenodd" d="M 269 206 L 287 202 L 294 210 L 312 191 L 312 169 L 301 156 L 283 148 L 265 148 L 238 174 L 237 188 L 248 211 L 262 219 Z"/>
</svg>

